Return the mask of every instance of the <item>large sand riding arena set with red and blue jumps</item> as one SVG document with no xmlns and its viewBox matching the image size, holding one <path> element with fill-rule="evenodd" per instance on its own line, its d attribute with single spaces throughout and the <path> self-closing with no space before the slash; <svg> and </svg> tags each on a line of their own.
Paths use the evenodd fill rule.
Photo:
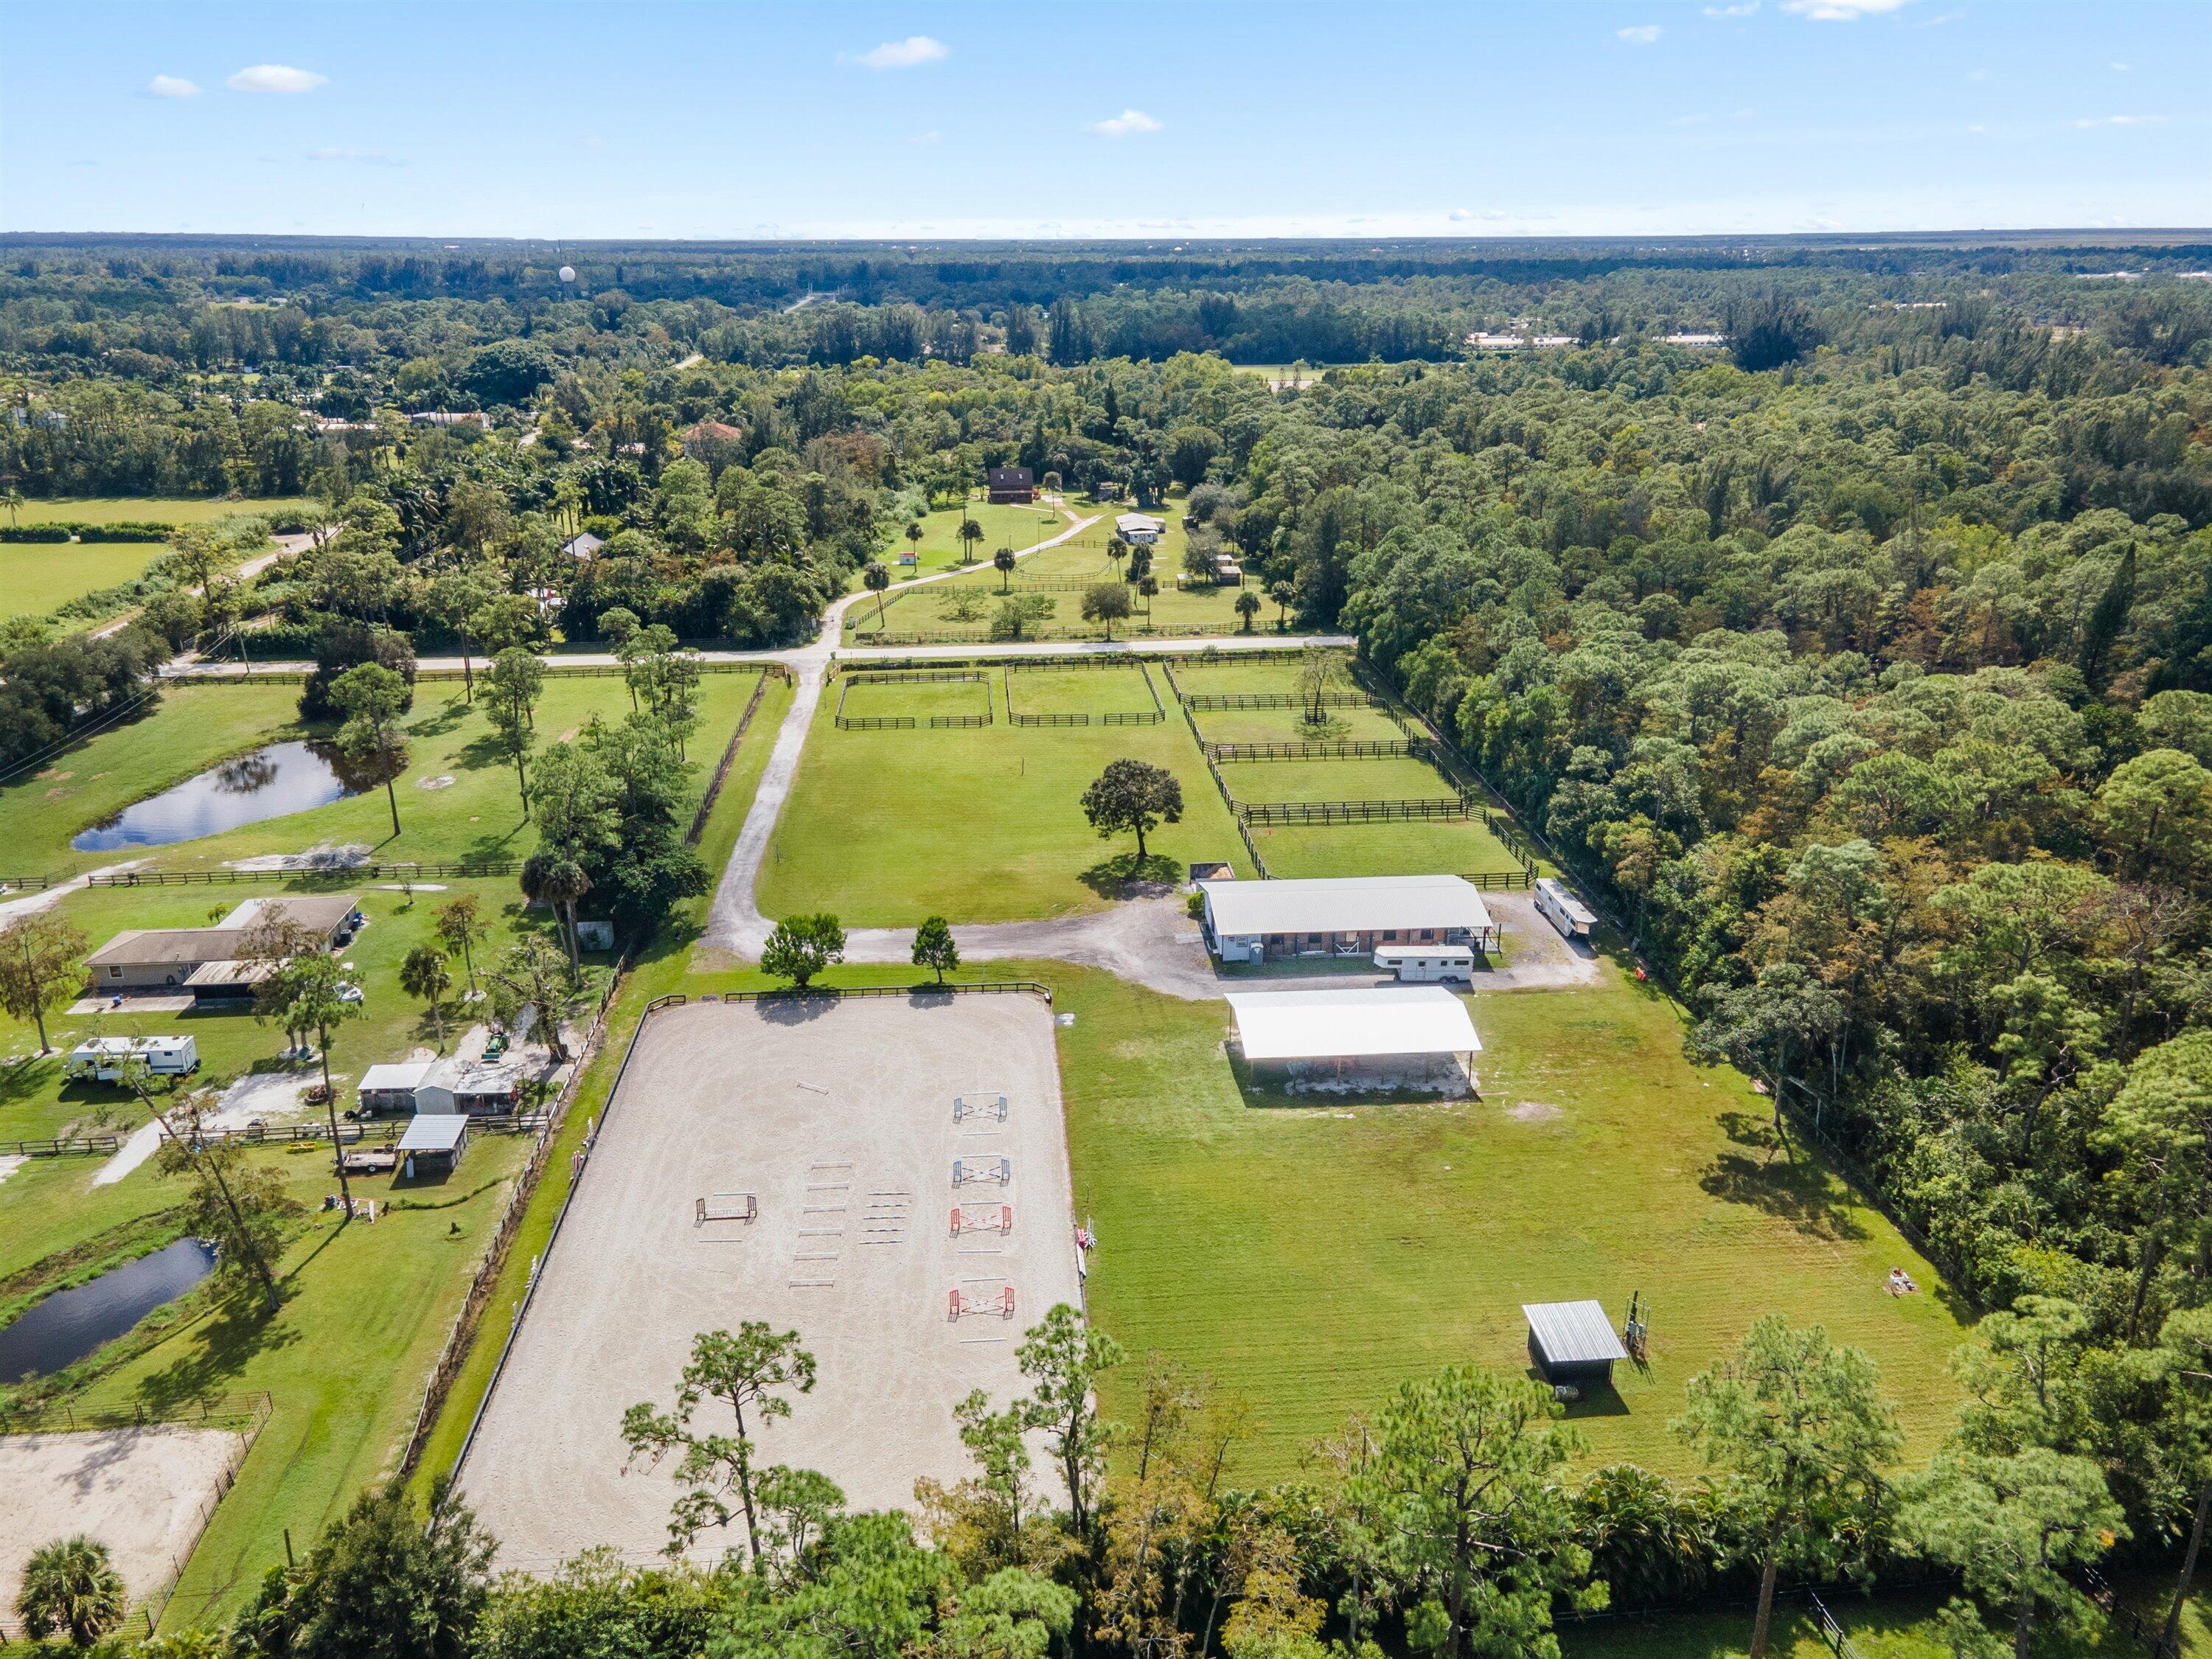
<svg viewBox="0 0 2212 1659">
<path fill-rule="evenodd" d="M 1004 1095 L 1006 1117 L 956 1121 L 956 1095 Z M 971 1177 L 958 1190 L 956 1161 Z M 759 1217 L 699 1225 L 710 1194 L 754 1194 Z M 911 1506 L 916 1478 L 971 1473 L 953 1402 L 1020 1391 L 1022 1332 L 1077 1301 L 1073 1234 L 1040 998 L 664 1009 L 608 1104 L 462 1491 L 507 1566 L 664 1546 L 677 1489 L 666 1471 L 622 1473 L 622 1411 L 672 1400 L 697 1332 L 759 1318 L 796 1329 L 818 1365 L 759 1462 L 821 1469 L 854 1509 Z M 1013 1318 L 947 1316 L 956 1290 L 1004 1285 Z M 695 1422 L 730 1427 L 706 1407 Z"/>
</svg>

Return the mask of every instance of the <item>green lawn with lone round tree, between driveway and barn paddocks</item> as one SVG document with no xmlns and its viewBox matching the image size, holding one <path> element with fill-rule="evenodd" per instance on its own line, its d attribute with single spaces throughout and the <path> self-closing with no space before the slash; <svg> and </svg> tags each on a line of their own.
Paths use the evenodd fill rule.
<svg viewBox="0 0 2212 1659">
<path fill-rule="evenodd" d="M 1099 708 L 1121 708 L 1102 675 Z M 1113 860 L 1133 836 L 1099 841 L 1082 792 L 1108 761 L 1164 765 L 1183 785 L 1183 821 L 1150 836 L 1177 863 L 1243 856 L 1237 825 L 1190 732 L 1159 726 L 1009 726 L 843 732 L 825 697 L 761 872 L 768 916 L 830 909 L 847 925 L 911 927 L 942 914 L 1004 922 L 1104 909 Z"/>
</svg>

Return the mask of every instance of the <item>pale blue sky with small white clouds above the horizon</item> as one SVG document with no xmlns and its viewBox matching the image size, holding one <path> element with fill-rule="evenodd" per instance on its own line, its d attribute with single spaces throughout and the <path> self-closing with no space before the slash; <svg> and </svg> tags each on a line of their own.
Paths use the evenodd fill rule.
<svg viewBox="0 0 2212 1659">
<path fill-rule="evenodd" d="M 0 7 L 0 230 L 2212 226 L 2212 7 Z"/>
</svg>

